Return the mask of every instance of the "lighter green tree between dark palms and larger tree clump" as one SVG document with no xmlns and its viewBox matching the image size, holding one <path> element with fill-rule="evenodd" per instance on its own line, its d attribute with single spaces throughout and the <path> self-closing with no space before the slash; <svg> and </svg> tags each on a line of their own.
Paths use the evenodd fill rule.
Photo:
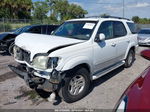
<svg viewBox="0 0 150 112">
<path fill-rule="evenodd" d="M 50 10 L 47 2 L 38 1 L 33 5 L 33 18 L 38 19 L 43 23 L 43 20 L 47 18 L 47 14 Z"/>
</svg>

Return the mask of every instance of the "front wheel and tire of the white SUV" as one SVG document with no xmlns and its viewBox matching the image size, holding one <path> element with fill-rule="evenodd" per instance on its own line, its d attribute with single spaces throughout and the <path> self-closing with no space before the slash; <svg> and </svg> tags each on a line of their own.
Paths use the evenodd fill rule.
<svg viewBox="0 0 150 112">
<path fill-rule="evenodd" d="M 87 69 L 75 69 L 72 73 L 73 74 L 71 76 L 66 76 L 64 78 L 64 84 L 63 86 L 61 86 L 58 92 L 59 96 L 67 103 L 78 101 L 86 96 L 89 92 L 90 87 L 90 74 Z M 77 84 L 79 84 L 79 81 L 80 85 L 77 86 Z M 73 87 L 73 85 L 76 85 L 77 87 Z"/>
</svg>

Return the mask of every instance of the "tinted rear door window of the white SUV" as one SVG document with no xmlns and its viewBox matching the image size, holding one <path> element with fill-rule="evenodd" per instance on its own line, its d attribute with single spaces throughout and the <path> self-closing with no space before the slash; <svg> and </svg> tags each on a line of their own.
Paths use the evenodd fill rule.
<svg viewBox="0 0 150 112">
<path fill-rule="evenodd" d="M 114 22 L 114 37 L 122 37 L 127 34 L 127 31 L 125 29 L 125 26 L 120 21 Z"/>
</svg>

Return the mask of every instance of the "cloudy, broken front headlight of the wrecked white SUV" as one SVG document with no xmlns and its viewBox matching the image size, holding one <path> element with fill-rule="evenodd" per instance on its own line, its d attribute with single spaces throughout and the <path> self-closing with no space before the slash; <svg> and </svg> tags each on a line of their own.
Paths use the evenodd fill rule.
<svg viewBox="0 0 150 112">
<path fill-rule="evenodd" d="M 37 55 L 35 56 L 35 58 L 33 59 L 32 65 L 33 67 L 37 68 L 37 69 L 48 69 L 48 68 L 56 68 L 58 66 L 58 62 L 59 62 L 58 57 L 48 57 L 48 54 L 41 54 L 41 55 Z"/>
</svg>

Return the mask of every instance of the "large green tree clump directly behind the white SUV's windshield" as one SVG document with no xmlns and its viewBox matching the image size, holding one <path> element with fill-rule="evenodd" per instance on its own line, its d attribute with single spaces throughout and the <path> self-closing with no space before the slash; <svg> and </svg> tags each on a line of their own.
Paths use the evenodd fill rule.
<svg viewBox="0 0 150 112">
<path fill-rule="evenodd" d="M 69 4 L 67 0 L 47 0 L 50 6 L 50 17 L 65 21 L 72 18 L 82 18 L 87 14 L 81 6 Z M 52 17 L 55 16 L 55 17 Z"/>
</svg>

